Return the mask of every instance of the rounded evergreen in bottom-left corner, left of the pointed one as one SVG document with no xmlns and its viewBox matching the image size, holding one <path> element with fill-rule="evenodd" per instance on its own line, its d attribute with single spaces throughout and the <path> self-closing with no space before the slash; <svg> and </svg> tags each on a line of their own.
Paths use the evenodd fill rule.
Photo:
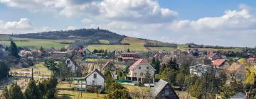
<svg viewBox="0 0 256 99">
<path fill-rule="evenodd" d="M 12 83 L 9 88 L 9 99 L 23 99 L 21 88 L 17 83 Z"/>
</svg>

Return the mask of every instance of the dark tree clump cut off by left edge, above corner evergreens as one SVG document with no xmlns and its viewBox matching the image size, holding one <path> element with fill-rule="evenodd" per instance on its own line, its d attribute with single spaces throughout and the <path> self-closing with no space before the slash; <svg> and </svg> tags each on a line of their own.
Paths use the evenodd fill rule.
<svg viewBox="0 0 256 99">
<path fill-rule="evenodd" d="M 0 79 L 5 78 L 9 75 L 9 66 L 5 62 L 0 61 Z"/>
</svg>

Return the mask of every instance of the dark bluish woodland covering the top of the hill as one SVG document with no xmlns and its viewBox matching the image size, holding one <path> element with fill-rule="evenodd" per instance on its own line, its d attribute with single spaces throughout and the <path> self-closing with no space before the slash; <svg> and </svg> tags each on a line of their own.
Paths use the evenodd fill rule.
<svg viewBox="0 0 256 99">
<path fill-rule="evenodd" d="M 65 40 L 65 39 L 90 39 L 95 38 L 97 40 L 121 40 L 123 35 L 112 33 L 109 30 L 102 29 L 78 29 L 78 30 L 58 30 L 48 31 L 43 33 L 28 33 L 13 35 L 14 37 L 23 38 L 36 38 L 36 39 L 52 39 L 52 40 Z"/>
</svg>

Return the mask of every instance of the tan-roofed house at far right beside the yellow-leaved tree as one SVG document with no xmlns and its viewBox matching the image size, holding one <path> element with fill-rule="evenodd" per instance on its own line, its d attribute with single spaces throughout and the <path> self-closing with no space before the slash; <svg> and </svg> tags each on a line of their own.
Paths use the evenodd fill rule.
<svg viewBox="0 0 256 99">
<path fill-rule="evenodd" d="M 245 81 L 245 65 L 233 63 L 228 67 L 228 77 L 240 79 L 241 81 Z"/>
</svg>

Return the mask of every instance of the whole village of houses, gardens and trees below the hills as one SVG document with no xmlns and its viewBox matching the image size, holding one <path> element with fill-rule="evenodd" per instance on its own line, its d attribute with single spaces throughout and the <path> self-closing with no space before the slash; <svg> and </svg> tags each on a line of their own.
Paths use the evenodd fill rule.
<svg viewBox="0 0 256 99">
<path fill-rule="evenodd" d="M 0 45 L 0 50 L 0 59 L 11 66 L 1 76 L 0 98 L 8 91 L 6 86 L 15 82 L 26 93 L 31 79 L 38 86 L 56 79 L 56 91 L 50 92 L 53 98 L 222 99 L 255 94 L 253 49 L 241 53 L 196 47 L 172 52 L 88 50 L 86 46 L 26 50 L 11 42 L 10 47 Z"/>
</svg>

